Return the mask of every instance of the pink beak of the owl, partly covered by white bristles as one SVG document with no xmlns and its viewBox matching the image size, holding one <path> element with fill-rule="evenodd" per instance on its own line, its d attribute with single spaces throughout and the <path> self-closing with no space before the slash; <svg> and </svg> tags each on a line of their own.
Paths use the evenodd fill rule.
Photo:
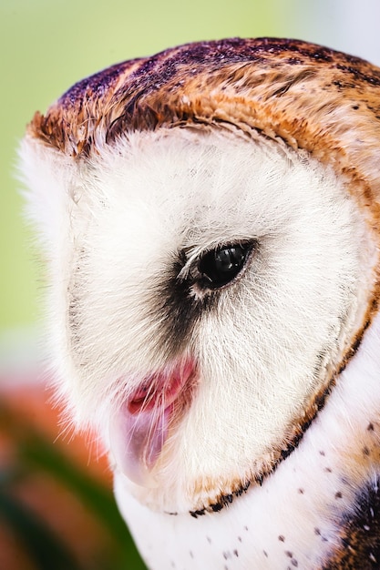
<svg viewBox="0 0 380 570">
<path fill-rule="evenodd" d="M 158 486 L 153 468 L 173 419 L 190 404 L 195 377 L 191 359 L 147 375 L 111 422 L 112 453 L 118 468 L 133 483 Z"/>
</svg>

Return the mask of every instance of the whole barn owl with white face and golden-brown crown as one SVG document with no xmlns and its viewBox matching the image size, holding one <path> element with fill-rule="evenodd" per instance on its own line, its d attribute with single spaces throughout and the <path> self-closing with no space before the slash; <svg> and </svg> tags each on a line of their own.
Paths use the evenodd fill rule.
<svg viewBox="0 0 380 570">
<path fill-rule="evenodd" d="M 379 143 L 380 69 L 271 38 L 28 126 L 57 391 L 151 570 L 380 567 Z"/>
</svg>

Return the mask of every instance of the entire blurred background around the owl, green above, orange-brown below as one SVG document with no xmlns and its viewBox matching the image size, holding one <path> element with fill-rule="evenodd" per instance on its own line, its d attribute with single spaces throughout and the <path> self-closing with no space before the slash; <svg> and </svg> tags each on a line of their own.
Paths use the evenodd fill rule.
<svg viewBox="0 0 380 570">
<path fill-rule="evenodd" d="M 380 65 L 378 0 L 0 0 L 0 568 L 142 569 L 104 460 L 58 437 L 41 378 L 43 290 L 22 218 L 26 123 L 78 79 L 227 36 L 297 37 Z"/>
</svg>

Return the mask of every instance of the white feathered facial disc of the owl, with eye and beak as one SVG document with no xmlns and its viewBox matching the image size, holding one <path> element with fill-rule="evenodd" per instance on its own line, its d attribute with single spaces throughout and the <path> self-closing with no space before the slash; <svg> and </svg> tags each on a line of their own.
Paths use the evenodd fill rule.
<svg viewBox="0 0 380 570">
<path fill-rule="evenodd" d="M 212 509 L 272 473 L 334 382 L 365 319 L 365 220 L 331 168 L 223 128 L 133 133 L 71 188 L 77 421 L 140 501 Z"/>
</svg>

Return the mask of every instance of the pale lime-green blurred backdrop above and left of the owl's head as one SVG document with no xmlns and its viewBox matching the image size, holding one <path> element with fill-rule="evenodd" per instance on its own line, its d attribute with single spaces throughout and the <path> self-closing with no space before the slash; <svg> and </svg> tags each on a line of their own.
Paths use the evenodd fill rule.
<svg viewBox="0 0 380 570">
<path fill-rule="evenodd" d="M 36 252 L 21 216 L 17 142 L 83 76 L 168 46 L 222 36 L 293 36 L 379 59 L 378 0 L 0 0 L 0 363 L 33 344 Z M 29 331 L 29 334 L 28 334 Z M 16 334 L 15 334 L 16 333 Z"/>
</svg>

